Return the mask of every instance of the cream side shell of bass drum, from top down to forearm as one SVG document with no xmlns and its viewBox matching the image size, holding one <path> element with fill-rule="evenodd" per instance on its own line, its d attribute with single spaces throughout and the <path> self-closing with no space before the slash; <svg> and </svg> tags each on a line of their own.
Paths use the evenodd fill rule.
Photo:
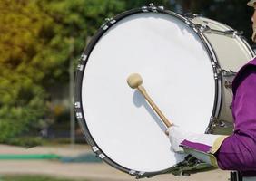
<svg viewBox="0 0 256 181">
<path fill-rule="evenodd" d="M 219 68 L 217 79 L 222 81 L 221 86 L 218 88 L 221 98 L 216 100 L 220 105 L 220 110 L 216 110 L 216 116 L 212 118 L 212 128 L 209 129 L 213 134 L 230 135 L 233 131 L 231 82 L 235 77 L 235 72 L 251 61 L 254 52 L 244 37 L 238 35 L 236 31 L 226 24 L 200 16 L 192 18 L 192 22 L 200 24 L 202 27 L 210 28 L 208 33 L 204 32 L 203 34 L 211 44 L 217 57 L 217 66 Z"/>
</svg>

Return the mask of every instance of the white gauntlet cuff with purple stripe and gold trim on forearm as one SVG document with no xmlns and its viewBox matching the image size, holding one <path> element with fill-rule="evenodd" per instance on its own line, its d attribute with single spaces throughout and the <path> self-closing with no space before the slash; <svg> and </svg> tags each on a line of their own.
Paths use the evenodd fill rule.
<svg viewBox="0 0 256 181">
<path fill-rule="evenodd" d="M 186 153 L 214 167 L 218 167 L 214 153 L 221 147 L 225 138 L 227 138 L 227 136 L 193 134 L 184 139 L 180 146 Z"/>
</svg>

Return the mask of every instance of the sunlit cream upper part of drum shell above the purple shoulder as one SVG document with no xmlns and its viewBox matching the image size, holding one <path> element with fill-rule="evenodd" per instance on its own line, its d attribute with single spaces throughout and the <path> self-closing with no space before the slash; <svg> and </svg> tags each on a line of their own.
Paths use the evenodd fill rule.
<svg viewBox="0 0 256 181">
<path fill-rule="evenodd" d="M 220 33 L 209 31 L 209 33 L 203 34 L 211 43 L 222 70 L 237 72 L 242 65 L 251 61 L 254 56 L 251 47 L 230 26 L 205 17 L 195 17 L 192 22 L 200 24 L 202 27 L 208 26 L 211 30 L 220 31 Z M 233 33 L 228 33 L 229 31 L 233 31 Z M 224 35 L 225 32 L 227 34 Z"/>
</svg>

